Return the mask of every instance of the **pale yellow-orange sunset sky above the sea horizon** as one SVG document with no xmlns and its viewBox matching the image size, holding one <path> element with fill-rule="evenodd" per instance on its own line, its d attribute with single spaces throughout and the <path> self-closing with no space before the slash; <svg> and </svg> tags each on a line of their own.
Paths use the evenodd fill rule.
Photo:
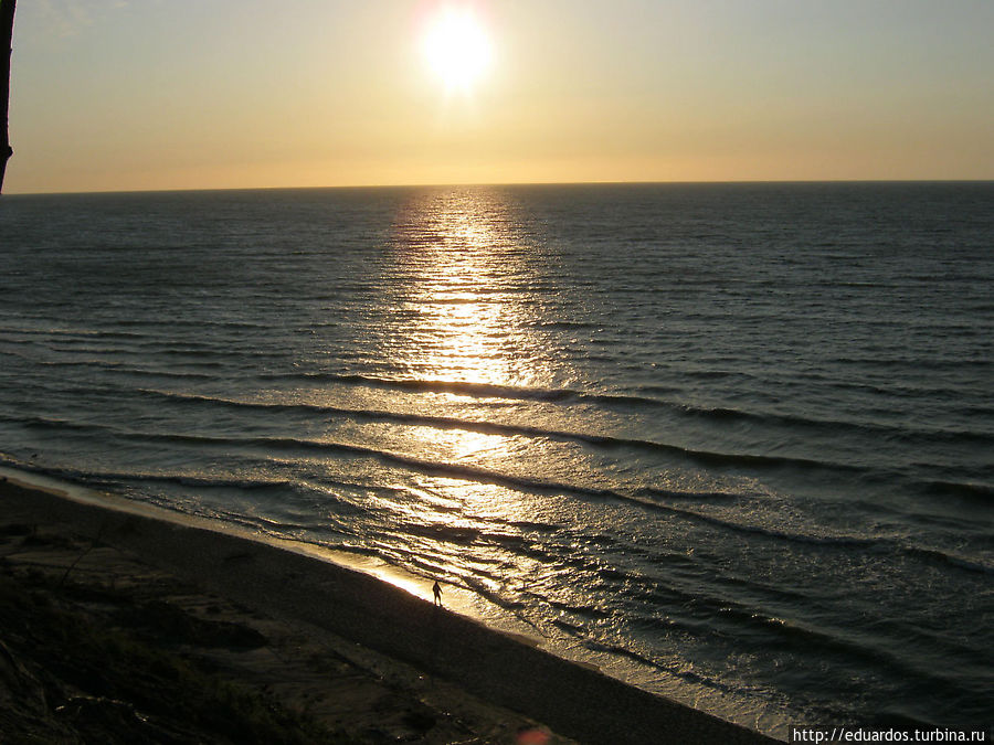
<svg viewBox="0 0 994 745">
<path fill-rule="evenodd" d="M 458 85 L 445 12 L 488 52 Z M 992 35 L 992 0 L 22 0 L 4 189 L 994 179 Z"/>
</svg>

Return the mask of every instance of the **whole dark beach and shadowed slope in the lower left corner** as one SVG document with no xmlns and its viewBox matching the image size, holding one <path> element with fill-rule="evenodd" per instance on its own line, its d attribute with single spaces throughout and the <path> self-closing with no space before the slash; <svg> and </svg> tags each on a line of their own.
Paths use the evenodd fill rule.
<svg viewBox="0 0 994 745">
<path fill-rule="evenodd" d="M 113 496 L 84 503 L 9 478 L 0 494 L 4 742 L 223 742 L 230 730 L 210 726 L 244 726 L 241 704 L 222 725 L 186 704 L 170 716 L 162 690 L 144 703 L 152 671 L 134 652 L 120 653 L 138 661 L 135 690 L 108 695 L 118 660 L 104 651 L 99 674 L 81 672 L 88 645 L 70 647 L 78 666 L 46 659 L 57 640 L 19 615 L 34 606 L 236 681 L 276 712 L 257 725 L 271 742 L 773 742 L 314 556 Z"/>
</svg>

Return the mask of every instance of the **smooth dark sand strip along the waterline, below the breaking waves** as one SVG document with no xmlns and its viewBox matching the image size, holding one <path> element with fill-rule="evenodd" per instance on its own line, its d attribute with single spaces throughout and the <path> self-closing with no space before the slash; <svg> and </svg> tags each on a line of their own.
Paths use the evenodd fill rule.
<svg viewBox="0 0 994 745">
<path fill-rule="evenodd" d="M 10 481 L 0 483 L 0 521 L 7 525 L 29 525 L 33 531 L 44 526 L 50 533 L 75 536 L 76 555 L 89 556 L 78 560 L 73 570 L 80 575 L 84 563 L 101 551 L 120 552 L 133 562 L 191 583 L 200 592 L 251 609 L 268 625 L 267 636 L 294 628 L 302 639 L 327 634 L 338 639 L 337 654 L 355 657 L 350 664 L 362 668 L 366 660 L 367 673 L 377 666 L 390 668 L 391 690 L 401 691 L 398 695 L 403 702 L 399 704 L 401 724 L 392 735 L 384 735 L 387 739 L 515 742 L 517 732 L 544 725 L 551 731 L 550 742 L 775 742 L 313 556 L 202 525 L 81 503 Z M 10 544 L 7 554 L 15 549 L 22 546 Z M 72 555 L 68 552 L 63 561 Z M 135 565 L 125 573 L 134 573 Z M 126 583 L 118 579 L 117 584 Z M 353 673 L 349 671 L 349 675 Z M 302 680 L 307 678 L 302 675 Z M 338 681 L 335 694 L 328 695 L 347 699 L 350 687 L 366 687 L 374 679 L 376 674 L 370 674 L 369 680 L 358 675 Z M 279 681 L 271 682 L 263 687 L 279 688 Z M 328 684 L 320 675 L 310 683 L 315 689 Z M 306 700 L 307 685 L 306 680 L 297 684 L 299 695 L 292 707 L 300 705 L 299 696 Z M 366 705 L 369 707 L 369 702 Z M 329 726 L 359 742 L 376 742 L 378 735 L 370 734 L 376 726 L 349 727 L 350 712 L 361 710 L 358 702 L 347 711 L 335 712 L 334 703 L 325 707 L 332 711 L 322 720 Z M 311 709 L 319 714 L 324 711 L 316 705 Z M 384 722 L 389 719 L 382 712 L 373 714 Z M 404 722 L 411 732 L 400 732 Z M 430 722 L 434 724 L 427 726 Z"/>
</svg>

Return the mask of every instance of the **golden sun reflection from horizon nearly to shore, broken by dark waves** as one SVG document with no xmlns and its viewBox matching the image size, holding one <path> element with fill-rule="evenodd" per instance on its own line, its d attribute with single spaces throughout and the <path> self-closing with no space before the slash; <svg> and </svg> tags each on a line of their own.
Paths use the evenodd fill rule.
<svg viewBox="0 0 994 745">
<path fill-rule="evenodd" d="M 387 286 L 395 288 L 396 317 L 403 322 L 393 324 L 384 343 L 396 368 L 412 379 L 500 389 L 557 386 L 550 350 L 535 323 L 548 288 L 537 277 L 533 246 L 516 235 L 512 205 L 501 196 L 486 189 L 422 192 L 398 217 L 394 276 Z M 479 401 L 450 394 L 445 414 L 478 419 Z M 547 444 L 469 427 L 408 426 L 395 436 L 394 446 L 405 454 L 473 473 L 421 477 L 414 491 L 422 498 L 392 505 L 422 571 L 505 599 L 536 581 L 541 567 L 500 545 L 499 533 L 533 519 L 537 497 L 491 482 L 487 475 L 499 481 L 501 473 L 518 472 L 518 461 L 541 459 Z"/>
</svg>

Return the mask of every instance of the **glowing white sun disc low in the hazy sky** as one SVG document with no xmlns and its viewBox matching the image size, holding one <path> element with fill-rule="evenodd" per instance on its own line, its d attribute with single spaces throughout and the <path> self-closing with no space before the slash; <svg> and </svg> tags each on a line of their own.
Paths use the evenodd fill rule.
<svg viewBox="0 0 994 745">
<path fill-rule="evenodd" d="M 440 8 L 427 23 L 423 50 L 448 91 L 468 93 L 490 65 L 490 40 L 472 8 Z"/>
</svg>

